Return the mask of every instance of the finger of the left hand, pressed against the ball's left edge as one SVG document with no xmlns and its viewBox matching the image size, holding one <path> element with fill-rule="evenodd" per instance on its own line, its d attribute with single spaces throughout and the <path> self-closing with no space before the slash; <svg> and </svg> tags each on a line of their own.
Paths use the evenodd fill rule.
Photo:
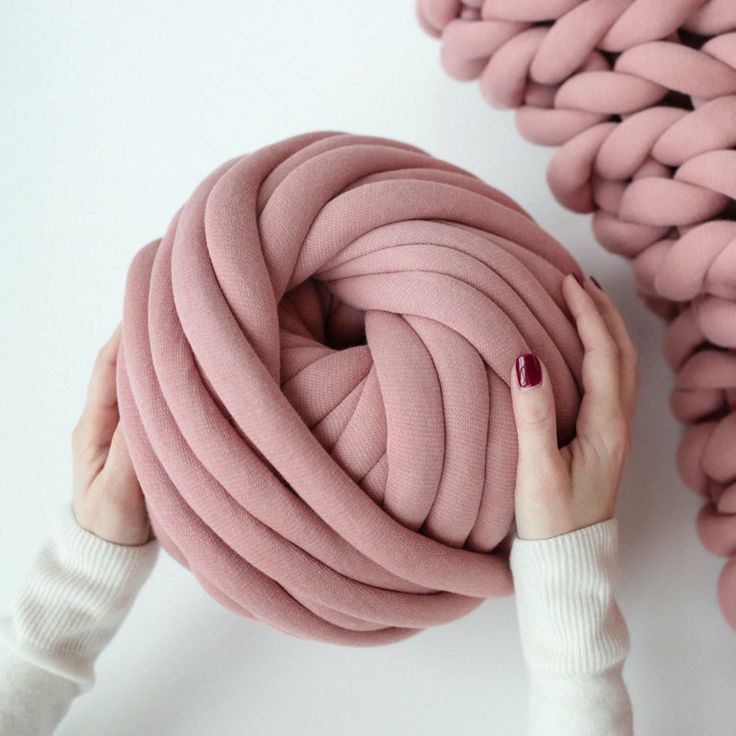
<svg viewBox="0 0 736 736">
<path fill-rule="evenodd" d="M 75 430 L 88 449 L 108 447 L 119 420 L 115 366 L 121 332 L 118 325 L 97 354 L 92 369 L 84 409 Z"/>
</svg>

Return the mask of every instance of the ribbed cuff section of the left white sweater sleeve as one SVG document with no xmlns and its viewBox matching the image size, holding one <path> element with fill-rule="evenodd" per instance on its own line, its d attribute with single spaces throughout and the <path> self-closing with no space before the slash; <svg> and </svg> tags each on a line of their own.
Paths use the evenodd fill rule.
<svg viewBox="0 0 736 736">
<path fill-rule="evenodd" d="M 64 506 L 15 602 L 0 620 L 0 642 L 19 656 L 78 682 L 94 681 L 94 661 L 117 631 L 151 572 L 159 545 L 107 542 Z"/>
</svg>

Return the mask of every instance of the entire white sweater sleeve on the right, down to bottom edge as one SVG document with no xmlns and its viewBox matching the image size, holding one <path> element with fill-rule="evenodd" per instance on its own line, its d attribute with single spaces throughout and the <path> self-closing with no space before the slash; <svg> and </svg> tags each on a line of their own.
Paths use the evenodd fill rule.
<svg viewBox="0 0 736 736">
<path fill-rule="evenodd" d="M 511 568 L 530 676 L 529 736 L 630 736 L 615 518 L 550 539 L 516 538 Z"/>
</svg>

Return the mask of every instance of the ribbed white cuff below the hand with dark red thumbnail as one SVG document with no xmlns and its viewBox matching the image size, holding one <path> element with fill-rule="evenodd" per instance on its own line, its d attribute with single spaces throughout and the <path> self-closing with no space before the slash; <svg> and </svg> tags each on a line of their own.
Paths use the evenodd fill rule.
<svg viewBox="0 0 736 736">
<path fill-rule="evenodd" d="M 613 597 L 615 518 L 511 548 L 522 647 L 531 673 L 588 675 L 625 659 L 629 634 Z"/>
</svg>

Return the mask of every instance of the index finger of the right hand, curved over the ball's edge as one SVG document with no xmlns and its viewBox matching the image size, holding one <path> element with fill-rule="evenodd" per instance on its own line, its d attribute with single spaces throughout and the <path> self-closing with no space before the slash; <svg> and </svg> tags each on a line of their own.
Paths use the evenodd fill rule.
<svg viewBox="0 0 736 736">
<path fill-rule="evenodd" d="M 562 294 L 585 349 L 577 422 L 578 430 L 584 431 L 621 414 L 618 348 L 590 294 L 571 274 L 562 282 Z"/>
</svg>

